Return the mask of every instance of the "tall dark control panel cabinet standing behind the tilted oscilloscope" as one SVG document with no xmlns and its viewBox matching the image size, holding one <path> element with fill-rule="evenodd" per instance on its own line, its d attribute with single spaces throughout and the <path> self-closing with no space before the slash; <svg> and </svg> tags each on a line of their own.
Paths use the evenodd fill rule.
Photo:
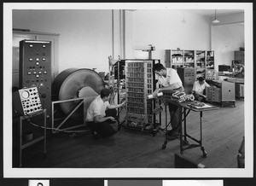
<svg viewBox="0 0 256 186">
<path fill-rule="evenodd" d="M 51 110 L 51 42 L 20 41 L 20 89 L 37 87 L 50 119 Z M 32 108 L 31 108 L 32 109 Z"/>
</svg>

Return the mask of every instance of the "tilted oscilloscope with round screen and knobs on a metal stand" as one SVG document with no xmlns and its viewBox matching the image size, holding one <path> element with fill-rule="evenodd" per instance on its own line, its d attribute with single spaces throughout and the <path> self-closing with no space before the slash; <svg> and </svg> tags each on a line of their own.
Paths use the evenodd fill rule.
<svg viewBox="0 0 256 186">
<path fill-rule="evenodd" d="M 14 96 L 15 111 L 21 115 L 31 115 L 43 111 L 37 87 L 18 90 Z"/>
</svg>

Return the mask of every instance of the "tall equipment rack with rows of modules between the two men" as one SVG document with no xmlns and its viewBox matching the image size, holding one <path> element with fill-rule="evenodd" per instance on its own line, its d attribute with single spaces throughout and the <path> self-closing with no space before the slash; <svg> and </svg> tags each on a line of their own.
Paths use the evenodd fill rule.
<svg viewBox="0 0 256 186">
<path fill-rule="evenodd" d="M 159 60 L 125 60 L 127 127 L 156 131 L 155 101 L 148 100 L 156 86 L 153 70 L 156 61 Z"/>
</svg>

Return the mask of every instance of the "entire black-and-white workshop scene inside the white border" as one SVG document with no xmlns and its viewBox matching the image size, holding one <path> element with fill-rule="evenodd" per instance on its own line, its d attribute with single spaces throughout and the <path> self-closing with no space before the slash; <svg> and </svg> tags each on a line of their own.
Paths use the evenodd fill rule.
<svg viewBox="0 0 256 186">
<path fill-rule="evenodd" d="M 247 9 L 167 8 L 12 9 L 13 168 L 245 168 Z"/>
</svg>

